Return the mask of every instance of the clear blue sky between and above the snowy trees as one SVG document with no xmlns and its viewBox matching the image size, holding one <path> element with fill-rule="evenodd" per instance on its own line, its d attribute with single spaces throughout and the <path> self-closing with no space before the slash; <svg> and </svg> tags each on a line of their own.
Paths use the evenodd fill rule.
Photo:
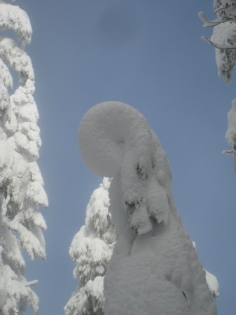
<svg viewBox="0 0 236 315">
<path fill-rule="evenodd" d="M 18 0 L 32 22 L 43 146 L 39 166 L 50 202 L 42 209 L 48 258 L 27 262 L 39 279 L 39 315 L 62 315 L 76 289 L 68 250 L 101 179 L 81 160 L 78 125 L 104 101 L 134 106 L 167 151 L 172 190 L 202 264 L 218 277 L 218 314 L 236 309 L 236 175 L 222 155 L 236 81 L 218 78 L 214 48 L 201 40 L 197 13 L 214 19 L 212 1 Z M 27 315 L 32 314 L 29 310 Z"/>
</svg>

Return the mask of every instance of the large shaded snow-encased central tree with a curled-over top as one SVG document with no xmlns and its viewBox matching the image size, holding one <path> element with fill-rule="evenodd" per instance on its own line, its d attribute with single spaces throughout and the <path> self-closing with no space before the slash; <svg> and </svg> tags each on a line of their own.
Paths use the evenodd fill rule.
<svg viewBox="0 0 236 315">
<path fill-rule="evenodd" d="M 216 307 L 172 200 L 171 172 L 158 138 L 136 109 L 98 104 L 79 127 L 90 169 L 109 188 L 118 241 L 104 278 L 106 315 L 214 315 Z"/>
</svg>

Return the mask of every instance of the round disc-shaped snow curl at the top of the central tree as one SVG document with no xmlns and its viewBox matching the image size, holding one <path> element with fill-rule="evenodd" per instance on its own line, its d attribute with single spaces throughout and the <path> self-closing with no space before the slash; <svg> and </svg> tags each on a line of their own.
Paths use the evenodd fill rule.
<svg viewBox="0 0 236 315">
<path fill-rule="evenodd" d="M 93 106 L 81 121 L 78 146 L 88 168 L 99 176 L 120 172 L 123 149 L 135 141 L 145 141 L 150 128 L 139 111 L 122 102 Z"/>
</svg>

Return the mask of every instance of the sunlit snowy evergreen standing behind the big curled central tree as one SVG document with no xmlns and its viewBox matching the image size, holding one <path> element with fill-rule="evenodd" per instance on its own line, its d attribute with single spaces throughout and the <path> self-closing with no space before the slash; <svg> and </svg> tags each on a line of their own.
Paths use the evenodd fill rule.
<svg viewBox="0 0 236 315">
<path fill-rule="evenodd" d="M 109 265 L 116 231 L 109 213 L 110 180 L 104 178 L 90 198 L 85 225 L 74 236 L 69 255 L 76 263 L 78 288 L 64 307 L 66 315 L 104 314 L 104 274 Z"/>
</svg>

